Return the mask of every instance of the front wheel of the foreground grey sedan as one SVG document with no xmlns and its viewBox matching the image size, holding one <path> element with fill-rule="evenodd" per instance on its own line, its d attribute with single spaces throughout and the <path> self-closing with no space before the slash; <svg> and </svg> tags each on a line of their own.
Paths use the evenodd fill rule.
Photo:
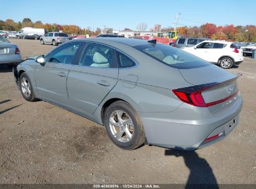
<svg viewBox="0 0 256 189">
<path fill-rule="evenodd" d="M 21 94 L 23 98 L 26 99 L 26 101 L 36 101 L 36 96 L 31 85 L 31 80 L 25 72 L 21 73 L 21 76 L 19 77 L 19 86 L 21 89 Z"/>
</svg>

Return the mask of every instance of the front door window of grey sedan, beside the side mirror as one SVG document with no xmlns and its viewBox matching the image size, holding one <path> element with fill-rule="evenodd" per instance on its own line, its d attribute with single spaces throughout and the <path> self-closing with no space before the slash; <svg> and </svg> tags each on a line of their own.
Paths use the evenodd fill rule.
<svg viewBox="0 0 256 189">
<path fill-rule="evenodd" d="M 82 42 L 73 42 L 62 45 L 46 57 L 47 62 L 71 64 L 73 58 L 75 58 L 75 53 L 77 53 L 81 46 Z"/>
</svg>

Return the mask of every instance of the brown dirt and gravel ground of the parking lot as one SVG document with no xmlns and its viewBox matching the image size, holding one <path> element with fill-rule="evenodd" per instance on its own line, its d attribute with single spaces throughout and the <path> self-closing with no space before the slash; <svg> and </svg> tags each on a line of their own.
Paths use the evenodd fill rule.
<svg viewBox="0 0 256 189">
<path fill-rule="evenodd" d="M 10 39 L 22 57 L 54 48 Z M 239 126 L 217 144 L 182 152 L 145 145 L 127 151 L 105 128 L 44 101 L 25 101 L 0 65 L 0 183 L 256 183 L 256 60 L 229 71 L 239 78 Z"/>
</svg>

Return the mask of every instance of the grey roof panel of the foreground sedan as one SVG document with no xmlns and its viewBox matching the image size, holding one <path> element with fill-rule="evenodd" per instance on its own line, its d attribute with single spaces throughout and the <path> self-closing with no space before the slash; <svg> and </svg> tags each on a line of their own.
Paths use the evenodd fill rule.
<svg viewBox="0 0 256 189">
<path fill-rule="evenodd" d="M 98 37 L 98 38 L 85 38 L 85 39 L 75 39 L 75 40 L 84 40 L 84 41 L 91 41 L 91 42 L 101 42 L 107 44 L 116 43 L 129 45 L 131 47 L 135 47 L 138 45 L 148 45 L 148 40 L 140 40 L 140 39 L 129 39 L 125 37 Z"/>
</svg>

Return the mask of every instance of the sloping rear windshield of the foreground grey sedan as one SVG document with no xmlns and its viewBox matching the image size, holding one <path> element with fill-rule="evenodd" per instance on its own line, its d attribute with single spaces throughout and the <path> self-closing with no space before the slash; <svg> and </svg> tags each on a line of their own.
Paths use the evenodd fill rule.
<svg viewBox="0 0 256 189">
<path fill-rule="evenodd" d="M 209 62 L 202 60 L 190 53 L 184 52 L 179 48 L 163 44 L 148 44 L 135 46 L 137 50 L 153 57 L 169 67 L 179 69 L 189 69 L 197 67 L 206 67 L 211 65 Z"/>
</svg>

